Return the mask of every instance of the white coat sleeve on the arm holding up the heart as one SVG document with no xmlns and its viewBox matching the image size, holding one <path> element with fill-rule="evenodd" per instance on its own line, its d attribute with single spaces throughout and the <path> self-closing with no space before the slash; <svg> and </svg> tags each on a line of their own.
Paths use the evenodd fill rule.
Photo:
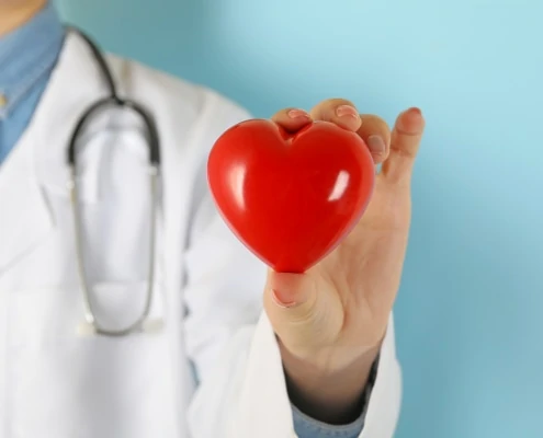
<svg viewBox="0 0 543 438">
<path fill-rule="evenodd" d="M 201 143 L 208 147 L 249 118 L 218 103 L 201 128 Z M 201 173 L 206 187 L 205 166 Z M 199 383 L 188 411 L 191 438 L 297 437 L 281 355 L 262 309 L 267 267 L 228 230 L 206 189 L 195 203 L 184 263 L 184 337 Z M 400 388 L 394 348 L 391 323 L 360 438 L 393 437 Z"/>
</svg>

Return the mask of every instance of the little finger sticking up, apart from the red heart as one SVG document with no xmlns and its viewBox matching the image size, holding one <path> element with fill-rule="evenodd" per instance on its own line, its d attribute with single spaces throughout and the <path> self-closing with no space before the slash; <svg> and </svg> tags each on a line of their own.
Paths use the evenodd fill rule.
<svg viewBox="0 0 543 438">
<path fill-rule="evenodd" d="M 391 152 L 382 168 L 382 175 L 388 182 L 409 184 L 423 130 L 420 110 L 409 108 L 398 116 L 391 136 Z"/>
</svg>

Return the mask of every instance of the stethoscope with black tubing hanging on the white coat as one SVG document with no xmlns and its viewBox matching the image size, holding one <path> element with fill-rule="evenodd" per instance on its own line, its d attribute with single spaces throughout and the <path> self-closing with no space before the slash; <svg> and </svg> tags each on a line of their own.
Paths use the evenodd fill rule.
<svg viewBox="0 0 543 438">
<path fill-rule="evenodd" d="M 104 81 L 108 84 L 109 95 L 101 100 L 98 100 L 81 115 L 79 122 L 77 123 L 73 132 L 71 135 L 68 150 L 67 150 L 67 164 L 70 170 L 69 176 L 69 191 L 70 191 L 70 201 L 73 214 L 75 232 L 76 232 L 76 256 L 78 264 L 79 283 L 83 296 L 84 306 L 84 321 L 86 324 L 80 325 L 78 331 L 86 334 L 97 334 L 104 336 L 126 336 L 132 333 L 146 331 L 146 323 L 148 322 L 149 312 L 152 303 L 152 296 L 155 292 L 155 240 L 156 240 L 156 209 L 157 209 L 157 191 L 158 191 L 158 176 L 160 170 L 160 141 L 157 131 L 157 127 L 151 115 L 137 102 L 123 99 L 117 94 L 115 82 L 113 76 L 108 68 L 106 61 L 98 48 L 98 46 L 91 41 L 89 36 L 82 33 L 80 30 L 75 27 L 69 27 L 69 31 L 76 32 L 83 41 L 88 44 L 92 56 L 94 57 Z M 81 137 L 81 132 L 87 125 L 87 123 L 100 111 L 106 107 L 116 106 L 120 108 L 128 108 L 134 111 L 139 115 L 144 122 L 145 129 L 147 131 L 147 146 L 149 149 L 149 182 L 151 191 L 151 205 L 150 205 L 150 242 L 149 242 L 149 261 L 148 261 L 148 285 L 147 295 L 144 303 L 144 308 L 139 316 L 131 324 L 122 328 L 108 328 L 103 326 L 97 318 L 95 308 L 92 304 L 91 293 L 89 288 L 89 280 L 87 277 L 87 270 L 84 268 L 84 255 L 82 249 L 82 227 L 81 227 L 81 214 L 79 208 L 79 193 L 77 184 L 77 153 L 76 145 Z"/>
</svg>

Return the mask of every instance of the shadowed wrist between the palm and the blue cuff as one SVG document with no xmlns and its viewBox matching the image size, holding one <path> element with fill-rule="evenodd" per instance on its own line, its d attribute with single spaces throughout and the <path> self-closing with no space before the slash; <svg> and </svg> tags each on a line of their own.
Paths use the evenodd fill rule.
<svg viewBox="0 0 543 438">
<path fill-rule="evenodd" d="M 348 424 L 361 415 L 381 343 L 361 350 L 336 347 L 314 354 L 295 354 L 279 345 L 289 396 L 299 411 L 328 424 Z"/>
</svg>

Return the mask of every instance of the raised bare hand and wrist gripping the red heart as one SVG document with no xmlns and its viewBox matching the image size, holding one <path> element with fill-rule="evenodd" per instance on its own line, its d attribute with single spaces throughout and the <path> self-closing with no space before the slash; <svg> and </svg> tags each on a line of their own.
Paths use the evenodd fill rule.
<svg viewBox="0 0 543 438">
<path fill-rule="evenodd" d="M 291 400 L 308 415 L 344 423 L 359 414 L 399 288 L 411 172 L 425 120 L 410 108 L 391 132 L 380 117 L 359 115 L 351 102 L 339 99 L 321 102 L 309 114 L 284 110 L 272 119 L 294 131 L 312 119 L 351 129 L 383 164 L 372 200 L 344 241 L 304 274 L 270 270 L 264 292 Z"/>
</svg>

